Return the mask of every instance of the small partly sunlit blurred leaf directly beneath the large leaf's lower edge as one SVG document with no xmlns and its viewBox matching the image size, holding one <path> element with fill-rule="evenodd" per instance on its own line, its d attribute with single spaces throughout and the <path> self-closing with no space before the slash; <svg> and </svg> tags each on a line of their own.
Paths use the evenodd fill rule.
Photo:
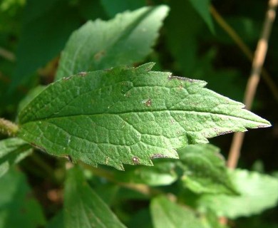
<svg viewBox="0 0 278 228">
<path fill-rule="evenodd" d="M 171 185 L 177 180 L 175 163 L 169 160 L 154 162 L 153 167 L 138 165 L 125 167 L 125 172 L 115 172 L 115 178 L 120 182 L 131 182 L 149 186 Z"/>
</svg>

